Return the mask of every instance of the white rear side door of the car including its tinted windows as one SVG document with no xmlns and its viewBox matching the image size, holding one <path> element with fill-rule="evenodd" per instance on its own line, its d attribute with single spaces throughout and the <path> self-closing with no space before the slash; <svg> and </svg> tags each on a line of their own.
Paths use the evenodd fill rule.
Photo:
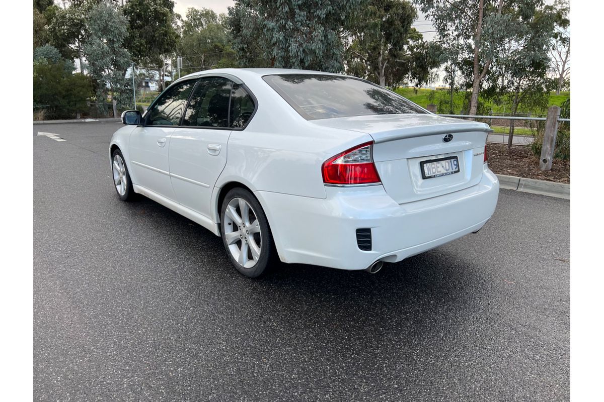
<svg viewBox="0 0 604 402">
<path fill-rule="evenodd" d="M 226 143 L 231 130 L 241 130 L 251 115 L 240 117 L 237 105 L 242 103 L 242 97 L 251 100 L 243 87 L 233 81 L 201 78 L 185 110 L 182 127 L 170 139 L 170 177 L 176 199 L 208 218 L 214 184 L 226 165 Z"/>
</svg>

